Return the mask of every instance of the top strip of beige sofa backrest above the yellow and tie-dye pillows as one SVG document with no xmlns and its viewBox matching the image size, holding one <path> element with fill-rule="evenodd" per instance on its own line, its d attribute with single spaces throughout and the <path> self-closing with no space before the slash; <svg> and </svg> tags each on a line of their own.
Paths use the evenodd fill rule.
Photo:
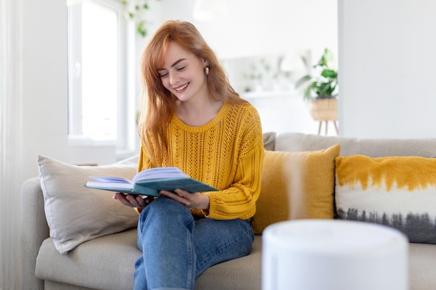
<svg viewBox="0 0 436 290">
<path fill-rule="evenodd" d="M 313 151 L 340 144 L 342 156 L 421 156 L 436 158 L 436 139 L 351 138 L 301 133 L 277 134 L 274 151 Z"/>
</svg>

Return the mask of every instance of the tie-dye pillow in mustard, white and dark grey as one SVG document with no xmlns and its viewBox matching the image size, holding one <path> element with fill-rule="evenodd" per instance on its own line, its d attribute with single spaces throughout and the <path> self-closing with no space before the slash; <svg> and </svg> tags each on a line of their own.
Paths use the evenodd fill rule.
<svg viewBox="0 0 436 290">
<path fill-rule="evenodd" d="M 336 157 L 338 218 L 388 225 L 436 243 L 436 159 Z"/>
</svg>

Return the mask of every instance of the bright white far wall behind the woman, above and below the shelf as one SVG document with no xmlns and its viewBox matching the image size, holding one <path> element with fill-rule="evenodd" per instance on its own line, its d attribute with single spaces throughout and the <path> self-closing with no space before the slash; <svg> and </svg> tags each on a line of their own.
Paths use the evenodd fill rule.
<svg viewBox="0 0 436 290">
<path fill-rule="evenodd" d="M 336 0 L 220 1 L 226 2 L 228 15 L 212 21 L 194 19 L 195 0 L 162 1 L 162 22 L 167 19 L 192 22 L 226 63 L 247 56 L 284 55 L 288 51 L 309 50 L 309 62 L 315 64 L 325 47 L 338 55 Z M 153 24 L 156 22 L 159 19 L 155 19 Z M 228 74 L 231 81 L 238 79 L 231 70 Z M 244 97 L 240 86 L 237 83 L 232 85 Z M 319 123 L 311 118 L 302 95 L 291 90 L 264 91 L 260 95 L 265 97 L 250 98 L 249 102 L 258 108 L 264 131 L 318 133 Z M 324 132 L 322 127 L 322 134 Z M 329 122 L 328 135 L 336 135 L 332 122 Z"/>
</svg>

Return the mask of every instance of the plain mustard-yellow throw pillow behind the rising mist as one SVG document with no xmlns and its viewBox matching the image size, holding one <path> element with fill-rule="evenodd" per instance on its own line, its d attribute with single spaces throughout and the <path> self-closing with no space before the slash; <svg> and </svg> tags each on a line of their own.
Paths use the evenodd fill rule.
<svg viewBox="0 0 436 290">
<path fill-rule="evenodd" d="M 255 234 L 272 223 L 302 218 L 333 218 L 334 159 L 340 145 L 311 152 L 265 151 Z"/>
</svg>

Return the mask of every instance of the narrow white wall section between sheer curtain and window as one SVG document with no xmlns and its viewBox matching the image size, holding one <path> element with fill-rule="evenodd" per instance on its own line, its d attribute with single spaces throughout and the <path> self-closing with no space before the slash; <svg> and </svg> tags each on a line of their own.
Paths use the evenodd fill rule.
<svg viewBox="0 0 436 290">
<path fill-rule="evenodd" d="M 24 177 L 33 177 L 38 154 L 68 160 L 67 7 L 21 1 Z"/>
</svg>

